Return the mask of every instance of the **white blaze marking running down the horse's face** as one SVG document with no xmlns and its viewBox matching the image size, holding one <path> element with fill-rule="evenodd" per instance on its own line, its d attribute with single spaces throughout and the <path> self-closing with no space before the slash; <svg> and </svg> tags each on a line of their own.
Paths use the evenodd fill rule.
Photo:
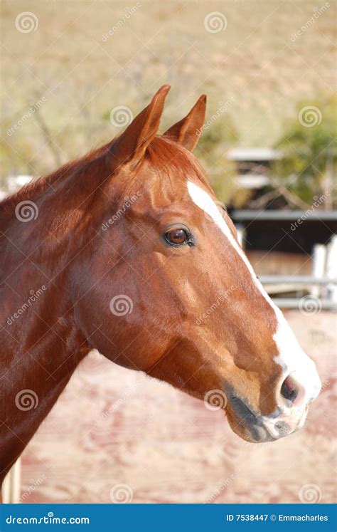
<svg viewBox="0 0 337 532">
<path fill-rule="evenodd" d="M 240 244 L 237 243 L 237 240 L 232 235 L 230 227 L 225 222 L 222 214 L 220 213 L 217 205 L 210 197 L 210 195 L 205 192 L 201 187 L 198 187 L 197 184 L 188 181 L 188 192 L 193 199 L 193 202 L 203 209 L 203 211 L 208 214 L 208 217 L 213 219 L 215 225 L 219 227 L 223 234 L 227 237 L 230 244 L 232 244 L 237 254 L 241 257 L 242 261 L 247 266 L 248 271 L 252 276 L 252 280 L 257 286 L 258 290 L 262 296 L 268 301 L 269 305 L 273 308 L 274 313 L 277 317 L 277 330 L 274 333 L 274 342 L 277 345 L 279 350 L 279 355 L 275 357 L 275 362 L 282 366 L 284 378 L 289 375 L 289 373 L 296 371 L 296 379 L 305 389 L 305 400 L 310 399 L 311 397 L 317 397 L 319 391 L 321 390 L 321 381 L 319 375 L 316 372 L 316 366 L 309 358 L 304 351 L 297 343 L 297 340 L 289 327 L 287 320 L 284 318 L 284 315 L 275 305 L 271 298 L 269 298 L 267 292 L 264 290 L 262 284 L 257 279 L 255 272 L 248 261 L 247 256 L 242 251 Z"/>
</svg>

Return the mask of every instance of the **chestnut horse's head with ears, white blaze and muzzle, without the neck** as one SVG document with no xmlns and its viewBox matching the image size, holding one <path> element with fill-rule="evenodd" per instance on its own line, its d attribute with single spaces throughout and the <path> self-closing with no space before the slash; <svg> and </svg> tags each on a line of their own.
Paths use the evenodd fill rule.
<svg viewBox="0 0 337 532">
<path fill-rule="evenodd" d="M 159 136 L 168 91 L 100 155 L 100 238 L 74 261 L 75 319 L 90 347 L 222 407 L 240 437 L 279 439 L 304 424 L 319 376 L 192 155 L 205 96 Z"/>
</svg>

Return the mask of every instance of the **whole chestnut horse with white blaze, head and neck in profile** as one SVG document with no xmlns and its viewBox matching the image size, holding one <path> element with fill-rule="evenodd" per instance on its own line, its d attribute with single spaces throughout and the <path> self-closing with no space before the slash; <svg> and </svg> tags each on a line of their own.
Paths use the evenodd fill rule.
<svg viewBox="0 0 337 532">
<path fill-rule="evenodd" d="M 192 155 L 206 98 L 159 136 L 168 91 L 117 139 L 0 204 L 1 481 L 94 348 L 218 395 L 250 442 L 294 432 L 319 394 Z"/>
</svg>

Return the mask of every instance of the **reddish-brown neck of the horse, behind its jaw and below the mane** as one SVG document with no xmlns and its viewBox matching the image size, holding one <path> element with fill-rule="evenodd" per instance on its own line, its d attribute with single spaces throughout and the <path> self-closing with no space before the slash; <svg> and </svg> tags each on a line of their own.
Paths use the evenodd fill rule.
<svg viewBox="0 0 337 532">
<path fill-rule="evenodd" d="M 63 203 L 63 196 L 74 202 L 71 190 L 74 179 L 63 183 L 59 194 L 28 191 L 38 205 L 37 219 L 21 225 L 10 220 L 2 237 L 0 482 L 90 350 L 70 296 L 72 259 L 83 245 L 73 234 L 80 213 L 69 216 L 72 207 Z M 85 197 L 90 202 L 87 190 Z"/>
</svg>

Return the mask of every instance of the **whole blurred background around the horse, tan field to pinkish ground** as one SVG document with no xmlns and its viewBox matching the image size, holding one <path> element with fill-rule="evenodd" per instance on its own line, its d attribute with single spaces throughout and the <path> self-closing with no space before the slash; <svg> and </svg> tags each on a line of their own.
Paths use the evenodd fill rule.
<svg viewBox="0 0 337 532">
<path fill-rule="evenodd" d="M 196 155 L 323 382 L 303 430 L 247 444 L 223 412 L 90 353 L 23 454 L 21 502 L 333 502 L 336 4 L 3 1 L 0 199 L 171 84 L 208 95 Z"/>
</svg>

